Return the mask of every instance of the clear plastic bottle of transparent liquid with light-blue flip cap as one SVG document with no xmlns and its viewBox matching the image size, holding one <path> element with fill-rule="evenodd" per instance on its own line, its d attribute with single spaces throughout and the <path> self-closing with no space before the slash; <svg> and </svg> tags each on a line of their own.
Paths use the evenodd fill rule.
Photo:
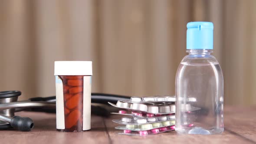
<svg viewBox="0 0 256 144">
<path fill-rule="evenodd" d="M 187 24 L 187 52 L 176 74 L 176 124 L 182 134 L 220 134 L 223 74 L 213 49 L 213 23 Z"/>
</svg>

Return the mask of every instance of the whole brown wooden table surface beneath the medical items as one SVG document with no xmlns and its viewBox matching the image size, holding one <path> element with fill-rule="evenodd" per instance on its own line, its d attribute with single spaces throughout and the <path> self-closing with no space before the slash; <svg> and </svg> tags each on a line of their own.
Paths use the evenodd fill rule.
<svg viewBox="0 0 256 144">
<path fill-rule="evenodd" d="M 19 112 L 16 115 L 28 116 L 35 122 L 30 132 L 0 131 L 0 144 L 256 144 L 256 107 L 224 108 L 223 134 L 182 135 L 175 131 L 162 134 L 126 136 L 117 134 L 112 115 L 110 118 L 92 116 L 92 129 L 87 132 L 57 132 L 54 114 Z"/>
</svg>

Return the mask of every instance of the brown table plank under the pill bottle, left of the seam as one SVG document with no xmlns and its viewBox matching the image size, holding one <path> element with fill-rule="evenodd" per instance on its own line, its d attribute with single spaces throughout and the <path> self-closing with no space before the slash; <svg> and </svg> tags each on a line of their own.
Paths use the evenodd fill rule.
<svg viewBox="0 0 256 144">
<path fill-rule="evenodd" d="M 103 119 L 92 117 L 92 130 L 87 132 L 56 131 L 56 115 L 20 112 L 16 115 L 33 119 L 35 128 L 31 132 L 0 131 L 0 144 L 107 144 L 108 135 Z"/>
</svg>

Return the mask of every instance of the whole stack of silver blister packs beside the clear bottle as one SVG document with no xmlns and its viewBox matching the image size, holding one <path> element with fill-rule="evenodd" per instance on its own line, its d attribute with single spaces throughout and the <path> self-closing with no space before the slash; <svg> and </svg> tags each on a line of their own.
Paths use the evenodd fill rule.
<svg viewBox="0 0 256 144">
<path fill-rule="evenodd" d="M 175 129 L 175 97 L 131 97 L 129 101 L 118 101 L 110 105 L 125 109 L 120 110 L 118 115 L 124 115 L 121 119 L 113 122 L 123 124 L 115 127 L 123 130 L 118 134 L 125 135 L 149 135 L 159 134 Z"/>
</svg>

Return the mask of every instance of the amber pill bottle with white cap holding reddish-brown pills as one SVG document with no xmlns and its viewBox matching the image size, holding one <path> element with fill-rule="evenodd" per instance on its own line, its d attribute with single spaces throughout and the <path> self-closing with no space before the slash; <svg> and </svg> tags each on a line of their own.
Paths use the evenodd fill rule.
<svg viewBox="0 0 256 144">
<path fill-rule="evenodd" d="M 91 129 L 91 61 L 56 61 L 56 129 Z"/>
</svg>

